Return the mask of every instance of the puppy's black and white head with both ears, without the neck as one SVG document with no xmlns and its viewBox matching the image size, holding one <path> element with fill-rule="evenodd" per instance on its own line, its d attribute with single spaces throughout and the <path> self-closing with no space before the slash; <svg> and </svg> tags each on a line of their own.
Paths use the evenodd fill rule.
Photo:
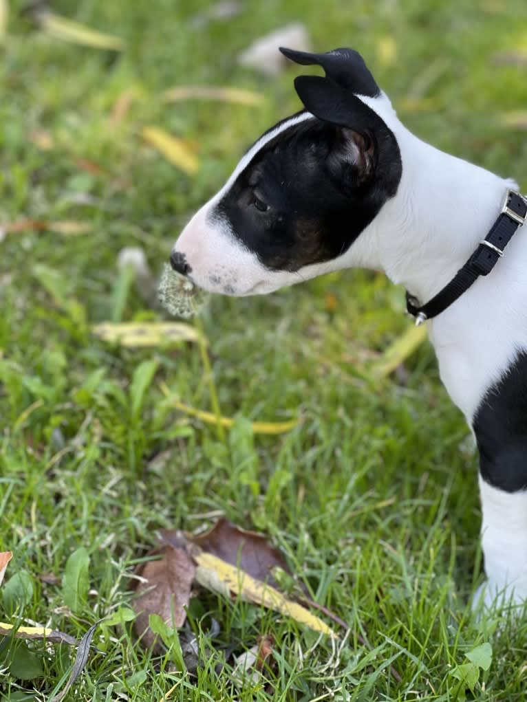
<svg viewBox="0 0 527 702">
<path fill-rule="evenodd" d="M 254 143 L 176 241 L 172 266 L 211 292 L 268 293 L 350 265 L 401 180 L 396 138 L 375 110 L 389 100 L 360 55 L 281 51 L 326 76 L 297 77 L 305 109 Z"/>
</svg>

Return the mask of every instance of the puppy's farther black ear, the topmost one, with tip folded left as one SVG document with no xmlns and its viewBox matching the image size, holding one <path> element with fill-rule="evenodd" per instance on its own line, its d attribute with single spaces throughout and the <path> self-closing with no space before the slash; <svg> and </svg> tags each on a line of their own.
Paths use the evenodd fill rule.
<svg viewBox="0 0 527 702">
<path fill-rule="evenodd" d="M 380 95 L 379 86 L 367 69 L 363 57 L 352 48 L 336 48 L 327 53 L 307 53 L 280 47 L 283 55 L 303 66 L 318 65 L 323 67 L 328 78 L 341 88 L 351 90 L 357 95 L 375 98 Z"/>
</svg>

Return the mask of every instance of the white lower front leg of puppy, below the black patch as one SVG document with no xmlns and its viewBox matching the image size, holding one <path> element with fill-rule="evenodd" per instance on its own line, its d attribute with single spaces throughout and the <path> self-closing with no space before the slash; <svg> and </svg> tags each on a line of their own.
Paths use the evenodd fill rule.
<svg viewBox="0 0 527 702">
<path fill-rule="evenodd" d="M 527 602 L 527 491 L 507 492 L 481 476 L 481 535 L 488 580 L 474 607 Z"/>
</svg>

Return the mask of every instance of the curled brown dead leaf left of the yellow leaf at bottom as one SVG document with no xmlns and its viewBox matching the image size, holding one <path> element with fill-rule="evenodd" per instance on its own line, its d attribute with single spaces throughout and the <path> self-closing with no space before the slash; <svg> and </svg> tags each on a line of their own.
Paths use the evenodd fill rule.
<svg viewBox="0 0 527 702">
<path fill-rule="evenodd" d="M 134 628 L 146 647 L 157 640 L 148 626 L 150 614 L 159 615 L 172 628 L 183 625 L 195 576 L 195 564 L 186 550 L 167 545 L 158 552 L 161 559 L 148 561 L 136 571 L 141 581 L 132 602 L 137 613 Z"/>
</svg>

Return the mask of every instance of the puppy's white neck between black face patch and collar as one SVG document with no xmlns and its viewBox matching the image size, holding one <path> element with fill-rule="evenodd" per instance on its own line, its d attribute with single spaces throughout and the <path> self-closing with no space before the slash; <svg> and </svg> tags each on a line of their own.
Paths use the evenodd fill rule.
<svg viewBox="0 0 527 702">
<path fill-rule="evenodd" d="M 419 140 L 397 119 L 387 98 L 382 107 L 401 149 L 403 175 L 396 197 L 350 253 L 353 265 L 382 268 L 425 303 L 486 237 L 507 187 L 516 185 Z"/>
</svg>

